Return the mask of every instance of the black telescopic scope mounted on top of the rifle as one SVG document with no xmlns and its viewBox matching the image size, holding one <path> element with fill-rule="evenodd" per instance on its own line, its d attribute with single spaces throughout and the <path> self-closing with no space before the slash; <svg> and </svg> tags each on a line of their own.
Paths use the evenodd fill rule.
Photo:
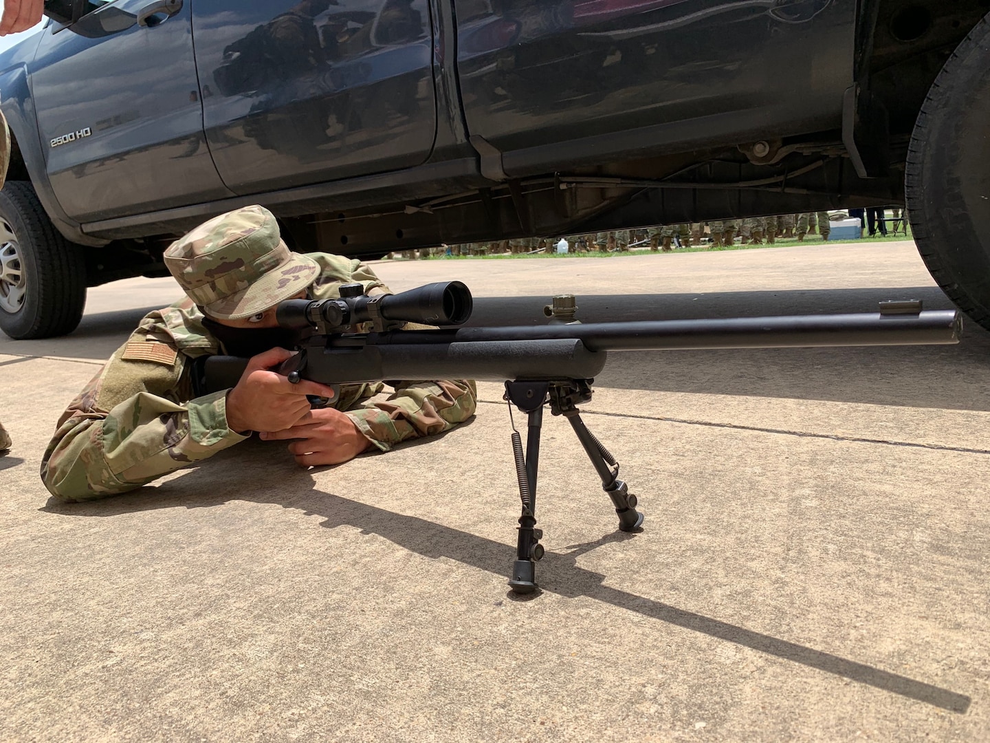
<svg viewBox="0 0 990 743">
<path fill-rule="evenodd" d="M 471 316 L 471 291 L 460 281 L 438 281 L 398 294 L 367 296 L 359 283 L 341 285 L 340 299 L 287 299 L 275 317 L 289 330 L 332 333 L 356 323 L 461 325 Z"/>
</svg>

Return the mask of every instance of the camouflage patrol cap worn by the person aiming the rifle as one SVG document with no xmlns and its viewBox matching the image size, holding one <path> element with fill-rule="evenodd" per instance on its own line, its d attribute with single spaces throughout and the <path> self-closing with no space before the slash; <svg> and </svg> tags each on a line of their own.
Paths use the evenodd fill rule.
<svg viewBox="0 0 990 743">
<path fill-rule="evenodd" d="M 210 317 L 238 320 L 309 286 L 320 272 L 282 242 L 275 217 L 246 206 L 204 222 L 165 250 L 165 265 Z"/>
</svg>

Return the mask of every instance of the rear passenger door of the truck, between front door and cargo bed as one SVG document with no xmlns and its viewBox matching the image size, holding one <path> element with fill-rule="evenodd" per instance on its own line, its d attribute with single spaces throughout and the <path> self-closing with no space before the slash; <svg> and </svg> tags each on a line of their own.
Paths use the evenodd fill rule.
<svg viewBox="0 0 990 743">
<path fill-rule="evenodd" d="M 193 31 L 207 140 L 237 193 L 430 156 L 427 0 L 197 0 Z"/>
</svg>

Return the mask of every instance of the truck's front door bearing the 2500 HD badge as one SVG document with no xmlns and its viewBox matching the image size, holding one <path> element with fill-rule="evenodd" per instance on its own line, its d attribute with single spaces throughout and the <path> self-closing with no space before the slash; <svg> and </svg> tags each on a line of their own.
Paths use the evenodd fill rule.
<svg viewBox="0 0 990 743">
<path fill-rule="evenodd" d="M 80 222 L 231 196 L 203 133 L 191 0 L 90 0 L 31 81 L 55 197 Z"/>
</svg>

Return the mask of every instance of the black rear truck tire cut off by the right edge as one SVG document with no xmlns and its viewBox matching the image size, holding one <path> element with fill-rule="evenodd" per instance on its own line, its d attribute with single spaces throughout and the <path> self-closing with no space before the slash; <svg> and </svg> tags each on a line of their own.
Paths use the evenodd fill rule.
<svg viewBox="0 0 990 743">
<path fill-rule="evenodd" d="M 905 197 L 925 264 L 990 329 L 990 16 L 941 68 L 915 123 Z"/>
</svg>

